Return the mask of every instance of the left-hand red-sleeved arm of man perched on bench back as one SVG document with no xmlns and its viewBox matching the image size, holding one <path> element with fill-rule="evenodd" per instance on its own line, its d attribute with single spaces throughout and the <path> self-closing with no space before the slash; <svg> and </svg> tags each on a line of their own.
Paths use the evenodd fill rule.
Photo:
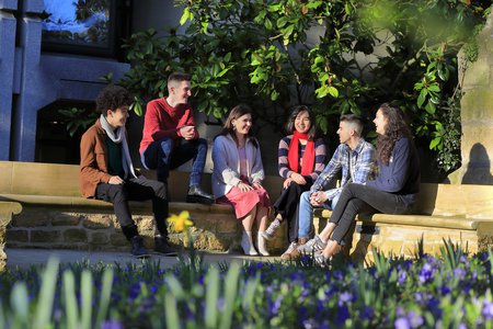
<svg viewBox="0 0 493 329">
<path fill-rule="evenodd" d="M 168 113 L 160 110 L 157 101 L 151 101 L 147 104 L 146 115 L 144 116 L 144 131 L 148 132 L 153 140 L 160 140 L 164 137 L 180 137 L 180 129 L 176 127 L 167 127 L 167 123 L 164 122 L 167 120 L 171 122 Z M 161 123 L 161 121 L 163 122 Z"/>
</svg>

